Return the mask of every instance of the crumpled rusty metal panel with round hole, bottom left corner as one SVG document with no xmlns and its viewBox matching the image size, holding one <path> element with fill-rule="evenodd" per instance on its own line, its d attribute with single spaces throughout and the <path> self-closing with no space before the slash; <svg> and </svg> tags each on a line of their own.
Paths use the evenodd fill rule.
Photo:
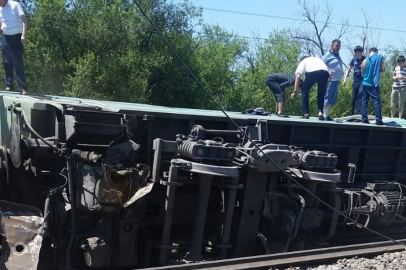
<svg viewBox="0 0 406 270">
<path fill-rule="evenodd" d="M 0 268 L 37 269 L 44 219 L 35 207 L 0 201 Z"/>
</svg>

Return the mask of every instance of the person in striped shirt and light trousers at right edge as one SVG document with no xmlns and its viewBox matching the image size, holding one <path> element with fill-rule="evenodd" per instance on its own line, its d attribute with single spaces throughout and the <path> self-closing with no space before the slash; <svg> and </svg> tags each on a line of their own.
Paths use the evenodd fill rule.
<svg viewBox="0 0 406 270">
<path fill-rule="evenodd" d="M 396 107 L 399 104 L 399 118 L 402 118 L 403 110 L 405 108 L 405 87 L 406 87 L 405 57 L 401 55 L 398 57 L 396 61 L 398 65 L 395 67 L 395 70 L 393 72 L 390 113 L 391 117 L 394 118 L 397 110 Z"/>
</svg>

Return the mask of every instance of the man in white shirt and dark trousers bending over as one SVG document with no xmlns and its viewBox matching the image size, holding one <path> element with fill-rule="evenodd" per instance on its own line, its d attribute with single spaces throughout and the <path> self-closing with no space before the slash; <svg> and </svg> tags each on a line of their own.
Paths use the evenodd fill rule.
<svg viewBox="0 0 406 270">
<path fill-rule="evenodd" d="M 309 91 L 313 85 L 317 83 L 317 113 L 319 120 L 324 120 L 324 94 L 331 78 L 327 65 L 318 57 L 303 57 L 300 59 L 300 63 L 296 69 L 295 86 L 291 98 L 294 98 L 299 91 L 299 83 L 302 74 L 306 75 L 302 86 L 303 118 L 309 119 Z"/>
</svg>

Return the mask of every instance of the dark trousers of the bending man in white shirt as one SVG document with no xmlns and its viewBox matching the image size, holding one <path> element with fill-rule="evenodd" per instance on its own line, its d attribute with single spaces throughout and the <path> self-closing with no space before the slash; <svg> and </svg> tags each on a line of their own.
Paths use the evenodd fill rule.
<svg viewBox="0 0 406 270">
<path fill-rule="evenodd" d="M 309 114 L 309 92 L 317 83 L 317 112 L 323 111 L 324 94 L 326 93 L 329 74 L 325 70 L 318 70 L 306 73 L 306 79 L 302 86 L 302 112 Z"/>
</svg>

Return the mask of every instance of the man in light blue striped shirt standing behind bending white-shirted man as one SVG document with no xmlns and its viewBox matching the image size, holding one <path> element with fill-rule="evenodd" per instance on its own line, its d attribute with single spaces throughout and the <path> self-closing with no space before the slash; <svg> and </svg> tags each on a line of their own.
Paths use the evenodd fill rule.
<svg viewBox="0 0 406 270">
<path fill-rule="evenodd" d="M 324 96 L 323 107 L 324 118 L 327 121 L 333 121 L 333 119 L 330 117 L 330 108 L 337 103 L 338 84 L 344 75 L 343 60 L 341 60 L 339 54 L 340 49 L 341 41 L 339 39 L 334 39 L 331 42 L 330 50 L 323 56 L 323 61 L 331 73 L 331 80 Z"/>
</svg>

